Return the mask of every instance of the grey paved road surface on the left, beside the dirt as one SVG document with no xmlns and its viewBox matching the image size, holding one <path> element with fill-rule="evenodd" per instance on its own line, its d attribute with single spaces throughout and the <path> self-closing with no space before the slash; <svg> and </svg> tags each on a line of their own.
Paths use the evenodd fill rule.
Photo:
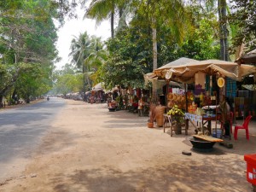
<svg viewBox="0 0 256 192">
<path fill-rule="evenodd" d="M 26 161 L 64 106 L 65 100 L 51 97 L 49 102 L 0 111 L 0 183 L 7 177 L 20 177 L 18 172 L 26 168 Z"/>
</svg>

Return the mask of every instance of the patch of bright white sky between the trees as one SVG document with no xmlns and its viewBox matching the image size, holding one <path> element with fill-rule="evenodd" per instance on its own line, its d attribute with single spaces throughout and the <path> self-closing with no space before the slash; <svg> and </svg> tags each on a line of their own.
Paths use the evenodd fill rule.
<svg viewBox="0 0 256 192">
<path fill-rule="evenodd" d="M 59 51 L 59 56 L 62 58 L 60 62 L 55 63 L 56 69 L 60 70 L 66 63 L 70 62 L 68 54 L 70 53 L 70 44 L 74 37 L 79 37 L 80 33 L 85 31 L 90 35 L 96 37 L 102 37 L 102 40 L 110 38 L 110 22 L 108 20 L 103 21 L 100 26 L 96 26 L 95 20 L 84 19 L 84 11 L 77 8 L 78 19 L 66 20 L 64 26 L 57 32 L 58 41 L 56 48 Z"/>
</svg>

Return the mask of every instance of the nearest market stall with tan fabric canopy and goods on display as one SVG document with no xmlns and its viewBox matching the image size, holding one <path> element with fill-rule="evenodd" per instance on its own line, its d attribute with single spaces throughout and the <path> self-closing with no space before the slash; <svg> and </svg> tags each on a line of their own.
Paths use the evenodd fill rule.
<svg viewBox="0 0 256 192">
<path fill-rule="evenodd" d="M 205 81 L 206 75 L 216 76 L 219 84 L 221 86 L 220 94 L 224 94 L 224 78 L 229 77 L 230 79 L 234 79 L 236 81 L 241 81 L 241 79 L 248 74 L 256 73 L 256 67 L 249 65 L 239 65 L 236 62 L 230 61 L 219 61 L 219 60 L 206 60 L 206 61 L 188 61 L 183 65 L 177 65 L 169 68 L 163 67 L 160 69 L 154 70 L 154 74 L 161 78 L 168 80 L 174 80 L 177 82 L 182 82 L 184 84 L 195 84 L 194 92 L 187 92 L 185 90 L 185 98 L 186 98 L 186 119 L 190 119 L 192 121 L 196 121 L 201 125 L 204 124 L 204 120 L 208 123 L 211 122 L 212 119 L 217 120 L 217 115 L 215 114 L 205 114 L 199 107 L 203 106 L 203 102 L 207 101 L 207 105 L 210 105 L 210 101 L 216 99 L 216 95 L 210 95 L 205 90 Z M 188 98 L 189 97 L 189 98 Z M 199 98 L 200 102 L 195 103 L 195 97 Z M 205 99 L 207 98 L 207 99 Z M 189 101 L 191 101 L 189 103 Z M 192 102 L 193 101 L 193 102 Z M 202 103 L 202 104 L 201 104 Z M 215 106 L 218 104 L 216 99 Z M 201 113 L 202 112 L 202 113 Z M 207 119 L 204 119 L 207 118 Z M 186 124 L 188 126 L 188 123 Z M 203 126 L 202 126 L 203 128 Z M 216 127 L 215 127 L 216 128 Z M 217 132 L 217 128 L 216 128 Z M 203 131 L 204 133 L 204 131 Z"/>
</svg>

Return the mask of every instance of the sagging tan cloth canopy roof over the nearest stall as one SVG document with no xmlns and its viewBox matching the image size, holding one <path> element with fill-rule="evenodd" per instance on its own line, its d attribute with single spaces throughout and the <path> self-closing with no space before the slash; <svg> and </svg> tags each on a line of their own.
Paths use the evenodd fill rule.
<svg viewBox="0 0 256 192">
<path fill-rule="evenodd" d="M 256 67 L 250 65 L 239 65 L 236 62 L 221 60 L 189 61 L 184 65 L 178 65 L 168 68 L 168 70 L 154 70 L 156 76 L 165 77 L 169 73 L 171 79 L 183 83 L 195 82 L 195 73 L 206 73 L 208 75 L 219 74 L 236 81 L 249 74 L 256 73 Z"/>
</svg>

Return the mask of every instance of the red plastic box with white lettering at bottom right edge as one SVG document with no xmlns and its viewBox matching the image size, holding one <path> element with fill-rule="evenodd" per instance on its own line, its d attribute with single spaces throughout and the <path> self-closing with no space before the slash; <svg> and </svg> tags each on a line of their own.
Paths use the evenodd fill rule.
<svg viewBox="0 0 256 192">
<path fill-rule="evenodd" d="M 256 186 L 256 154 L 245 154 L 244 160 L 247 161 L 247 182 Z"/>
</svg>

